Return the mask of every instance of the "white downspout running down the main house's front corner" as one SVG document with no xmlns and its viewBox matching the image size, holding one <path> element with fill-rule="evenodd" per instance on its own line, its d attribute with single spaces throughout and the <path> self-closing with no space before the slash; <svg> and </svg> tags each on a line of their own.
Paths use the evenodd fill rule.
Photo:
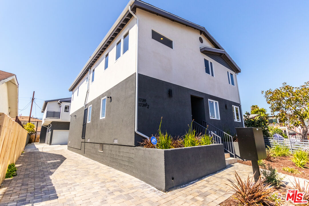
<svg viewBox="0 0 309 206">
<path fill-rule="evenodd" d="M 148 136 L 142 134 L 137 128 L 137 117 L 138 117 L 138 17 L 131 11 L 131 6 L 129 6 L 129 12 L 136 19 L 136 54 L 135 54 L 135 133 L 149 139 Z"/>
</svg>

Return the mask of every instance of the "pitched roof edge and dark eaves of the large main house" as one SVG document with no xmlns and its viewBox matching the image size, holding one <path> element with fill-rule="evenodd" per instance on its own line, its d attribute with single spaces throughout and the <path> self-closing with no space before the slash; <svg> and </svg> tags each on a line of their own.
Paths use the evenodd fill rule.
<svg viewBox="0 0 309 206">
<path fill-rule="evenodd" d="M 122 11 L 121 15 L 118 17 L 112 28 L 108 31 L 104 39 L 101 41 L 99 46 L 95 49 L 95 52 L 91 55 L 83 69 L 79 72 L 74 82 L 71 84 L 69 91 L 72 92 L 74 88 L 78 85 L 78 83 L 83 79 L 83 77 L 87 74 L 89 69 L 95 64 L 95 62 L 100 58 L 100 56 L 104 53 L 105 49 L 112 43 L 112 41 L 116 38 L 119 32 L 125 27 L 125 25 L 129 22 L 129 20 L 133 17 L 129 12 L 129 6 L 131 6 L 131 10 L 133 13 L 136 13 L 136 8 L 148 11 L 150 13 L 162 16 L 164 18 L 170 19 L 171 21 L 177 22 L 179 24 L 184 24 L 188 27 L 197 29 L 200 31 L 201 35 L 203 34 L 218 50 L 223 50 L 221 45 L 210 35 L 210 33 L 202 26 L 194 24 L 186 19 L 173 15 L 167 11 L 159 9 L 155 6 L 152 6 L 148 3 L 142 2 L 140 0 L 131 0 L 125 9 Z M 225 53 L 225 61 L 229 64 L 235 64 L 235 62 L 231 59 L 231 57 Z M 235 69 L 236 73 L 240 72 L 239 67 L 235 64 L 233 69 Z"/>
</svg>

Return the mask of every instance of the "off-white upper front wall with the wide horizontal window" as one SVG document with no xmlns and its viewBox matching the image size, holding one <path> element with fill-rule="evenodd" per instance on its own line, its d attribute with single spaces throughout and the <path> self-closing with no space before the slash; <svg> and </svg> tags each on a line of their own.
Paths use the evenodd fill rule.
<svg viewBox="0 0 309 206">
<path fill-rule="evenodd" d="M 239 103 L 237 84 L 228 83 L 227 71 L 235 72 L 200 52 L 211 43 L 185 25 L 137 9 L 138 73 Z M 173 41 L 173 49 L 151 38 L 151 30 Z M 199 41 L 202 37 L 203 43 Z M 214 77 L 205 73 L 204 58 L 213 62 Z"/>
</svg>

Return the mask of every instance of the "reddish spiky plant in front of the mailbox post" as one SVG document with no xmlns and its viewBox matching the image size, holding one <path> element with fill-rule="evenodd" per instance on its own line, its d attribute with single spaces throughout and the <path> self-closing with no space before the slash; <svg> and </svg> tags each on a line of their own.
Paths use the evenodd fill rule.
<svg viewBox="0 0 309 206">
<path fill-rule="evenodd" d="M 260 206 L 275 205 L 271 200 L 271 195 L 275 188 L 271 184 L 267 184 L 261 177 L 254 182 L 253 177 L 248 176 L 247 180 L 242 180 L 235 171 L 236 182 L 229 180 L 232 184 L 232 191 L 235 192 L 234 198 L 240 202 L 239 205 Z"/>
</svg>

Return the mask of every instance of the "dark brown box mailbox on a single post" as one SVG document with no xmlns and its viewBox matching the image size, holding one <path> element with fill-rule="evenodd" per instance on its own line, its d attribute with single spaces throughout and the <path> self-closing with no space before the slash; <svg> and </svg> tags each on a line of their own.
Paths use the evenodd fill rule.
<svg viewBox="0 0 309 206">
<path fill-rule="evenodd" d="M 262 129 L 239 127 L 236 128 L 236 132 L 240 157 L 251 160 L 254 180 L 257 181 L 261 175 L 258 161 L 267 157 Z"/>
</svg>

